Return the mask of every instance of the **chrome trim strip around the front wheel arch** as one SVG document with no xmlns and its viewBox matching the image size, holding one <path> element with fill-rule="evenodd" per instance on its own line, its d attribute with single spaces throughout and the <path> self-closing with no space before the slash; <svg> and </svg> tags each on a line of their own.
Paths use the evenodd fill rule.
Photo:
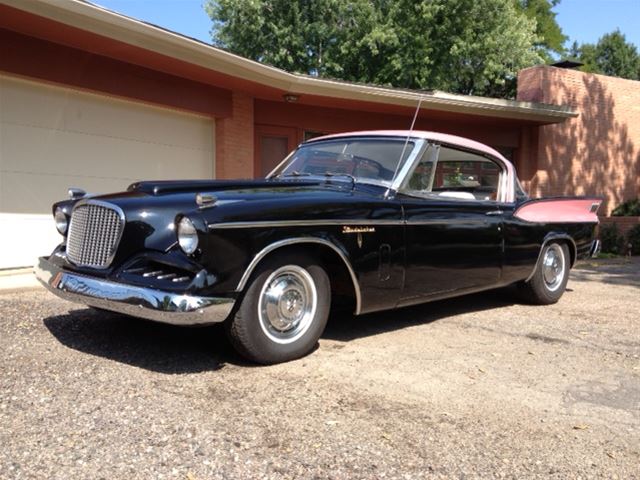
<svg viewBox="0 0 640 480">
<path fill-rule="evenodd" d="M 282 249 L 286 249 L 294 246 L 302 247 L 304 245 L 313 245 L 314 247 L 316 247 L 316 249 L 319 247 L 320 249 L 324 250 L 325 253 L 330 253 L 331 255 L 333 255 L 333 257 L 339 262 L 339 264 L 344 266 L 353 287 L 353 293 L 355 298 L 354 313 L 356 315 L 359 315 L 362 308 L 362 295 L 360 292 L 360 283 L 358 282 L 358 277 L 356 276 L 356 273 L 351 265 L 351 262 L 349 261 L 349 258 L 347 257 L 347 254 L 335 243 L 325 238 L 297 237 L 297 238 L 286 238 L 283 240 L 278 240 L 276 242 L 270 243 L 269 245 L 264 247 L 262 250 L 260 250 L 257 254 L 255 254 L 254 257 L 251 259 L 251 262 L 249 262 L 249 265 L 245 269 L 244 273 L 242 274 L 242 277 L 240 278 L 240 281 L 238 282 L 238 285 L 236 287 L 236 292 L 242 292 L 245 289 L 245 287 L 247 286 L 247 283 L 249 282 L 249 279 L 251 278 L 252 273 L 255 271 L 258 265 L 267 257 L 269 257 L 271 254 Z"/>
</svg>

